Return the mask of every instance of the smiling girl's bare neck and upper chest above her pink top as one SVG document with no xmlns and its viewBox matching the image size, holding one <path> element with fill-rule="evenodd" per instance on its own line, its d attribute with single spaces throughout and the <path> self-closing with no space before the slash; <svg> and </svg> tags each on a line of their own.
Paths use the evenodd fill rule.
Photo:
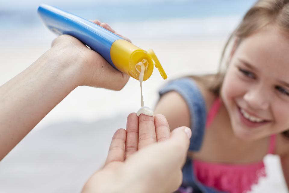
<svg viewBox="0 0 289 193">
<path fill-rule="evenodd" d="M 222 104 L 212 124 L 206 128 L 202 148 L 193 152 L 196 160 L 219 163 L 252 163 L 266 155 L 269 140 L 247 141 L 235 135 L 230 117 Z"/>
</svg>

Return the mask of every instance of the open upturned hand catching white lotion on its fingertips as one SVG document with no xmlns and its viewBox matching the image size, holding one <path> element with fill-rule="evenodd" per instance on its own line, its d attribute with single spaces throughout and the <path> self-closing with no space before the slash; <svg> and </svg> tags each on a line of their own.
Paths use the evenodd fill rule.
<svg viewBox="0 0 289 193">
<path fill-rule="evenodd" d="M 104 167 L 82 192 L 172 192 L 182 182 L 191 130 L 174 129 L 163 115 L 127 118 L 126 130 L 113 135 Z"/>
</svg>

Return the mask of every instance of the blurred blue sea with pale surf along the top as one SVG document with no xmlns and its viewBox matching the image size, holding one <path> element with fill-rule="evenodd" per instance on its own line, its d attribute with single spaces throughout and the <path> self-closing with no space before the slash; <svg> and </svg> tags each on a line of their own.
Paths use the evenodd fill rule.
<svg viewBox="0 0 289 193">
<path fill-rule="evenodd" d="M 35 36 L 45 27 L 37 8 L 53 5 L 85 19 L 99 19 L 126 36 L 183 36 L 228 33 L 255 0 L 83 0 L 40 2 L 16 0 L 1 3 L 0 33 Z M 47 29 L 45 29 L 47 30 Z M 3 35 L 2 35 L 3 37 Z M 1 38 L 2 39 L 2 38 Z"/>
</svg>

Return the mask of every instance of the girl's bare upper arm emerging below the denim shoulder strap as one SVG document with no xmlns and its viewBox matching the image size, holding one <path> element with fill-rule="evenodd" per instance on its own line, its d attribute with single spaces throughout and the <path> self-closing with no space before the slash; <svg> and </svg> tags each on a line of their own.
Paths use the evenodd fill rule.
<svg viewBox="0 0 289 193">
<path fill-rule="evenodd" d="M 155 114 L 163 114 L 168 120 L 170 130 L 186 126 L 190 127 L 190 111 L 182 96 L 171 91 L 161 96 L 154 110 Z"/>
</svg>

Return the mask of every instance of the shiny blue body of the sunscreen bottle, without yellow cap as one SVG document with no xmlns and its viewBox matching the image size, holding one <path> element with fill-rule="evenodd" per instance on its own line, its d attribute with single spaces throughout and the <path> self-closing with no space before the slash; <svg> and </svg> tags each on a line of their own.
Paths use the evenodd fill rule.
<svg viewBox="0 0 289 193">
<path fill-rule="evenodd" d="M 58 35 L 68 34 L 76 37 L 116 68 L 110 58 L 110 48 L 114 41 L 123 38 L 79 16 L 50 5 L 41 4 L 38 14 L 51 31 Z"/>
</svg>

